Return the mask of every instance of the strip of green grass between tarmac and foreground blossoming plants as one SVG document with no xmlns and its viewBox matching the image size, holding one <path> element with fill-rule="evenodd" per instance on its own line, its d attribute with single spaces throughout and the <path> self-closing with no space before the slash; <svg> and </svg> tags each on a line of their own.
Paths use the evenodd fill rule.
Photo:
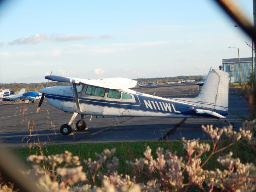
<svg viewBox="0 0 256 192">
<path fill-rule="evenodd" d="M 207 141 L 208 142 L 208 141 Z M 212 142 L 208 142 L 212 146 Z M 219 142 L 219 148 L 222 148 L 228 145 L 229 141 Z M 155 151 L 158 147 L 162 147 L 165 150 L 169 149 L 171 152 L 177 152 L 178 156 L 182 156 L 185 159 L 186 151 L 182 147 L 181 141 L 141 141 L 141 142 L 115 142 L 115 143 L 85 143 L 85 144 L 66 144 L 66 145 L 50 145 L 42 147 L 43 154 L 45 156 L 51 154 L 60 154 L 65 150 L 72 152 L 74 155 L 79 156 L 80 160 L 83 161 L 88 158 L 92 160 L 96 159 L 95 152 L 101 153 L 105 148 L 112 149 L 116 148 L 116 157 L 119 159 L 119 168 L 118 172 L 122 174 L 132 174 L 133 170 L 126 164 L 126 160 L 134 161 L 135 158 L 144 157 L 143 152 L 146 149 L 146 146 L 150 146 L 152 149 L 152 155 L 156 158 Z M 26 157 L 30 154 L 40 154 L 38 147 L 34 148 L 11 148 L 10 149 L 21 162 L 28 165 L 26 162 Z M 228 152 L 233 152 L 233 158 L 240 158 L 241 162 L 253 162 L 256 164 L 255 155 L 247 150 L 242 144 L 234 144 L 230 148 L 215 154 L 204 166 L 204 169 L 214 170 L 215 168 L 222 167 L 216 162 L 218 156 L 223 156 Z M 208 153 L 210 154 L 210 153 Z M 202 161 L 207 158 L 208 154 L 203 154 Z"/>
</svg>

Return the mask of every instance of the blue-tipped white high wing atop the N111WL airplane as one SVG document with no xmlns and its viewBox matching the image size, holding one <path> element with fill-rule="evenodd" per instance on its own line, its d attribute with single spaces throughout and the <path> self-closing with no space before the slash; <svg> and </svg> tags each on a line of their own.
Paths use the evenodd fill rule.
<svg viewBox="0 0 256 192">
<path fill-rule="evenodd" d="M 135 87 L 137 81 L 117 77 L 117 78 L 104 78 L 104 79 L 80 79 L 80 78 L 73 78 L 73 77 L 62 77 L 57 75 L 48 75 L 45 77 L 48 80 L 52 81 L 59 81 L 59 82 L 68 82 L 68 83 L 75 83 L 75 84 L 86 84 L 92 86 L 98 86 L 108 89 L 116 89 L 116 90 L 124 90 Z"/>
</svg>

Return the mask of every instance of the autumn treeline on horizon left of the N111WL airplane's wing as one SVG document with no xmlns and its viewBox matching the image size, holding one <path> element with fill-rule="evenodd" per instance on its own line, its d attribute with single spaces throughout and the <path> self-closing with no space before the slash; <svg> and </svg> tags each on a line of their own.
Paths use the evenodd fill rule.
<svg viewBox="0 0 256 192">
<path fill-rule="evenodd" d="M 22 88 L 26 88 L 28 91 L 37 91 L 46 87 L 47 82 L 42 83 L 0 83 L 1 89 L 10 89 L 11 91 L 19 91 Z M 48 87 L 52 86 L 70 86 L 70 83 L 65 82 L 49 82 Z"/>
</svg>

